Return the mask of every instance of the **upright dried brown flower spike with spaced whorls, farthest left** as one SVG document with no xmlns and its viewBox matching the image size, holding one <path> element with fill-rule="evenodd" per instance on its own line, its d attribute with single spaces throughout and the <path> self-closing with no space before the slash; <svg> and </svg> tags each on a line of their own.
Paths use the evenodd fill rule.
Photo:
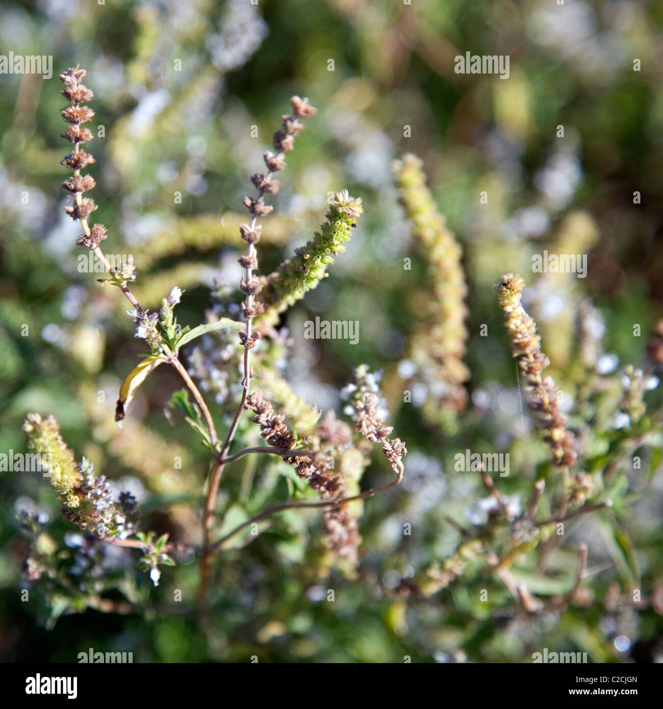
<svg viewBox="0 0 663 709">
<path fill-rule="evenodd" d="M 94 116 L 94 111 L 89 106 L 81 105 L 94 96 L 92 91 L 81 83 L 81 79 L 85 76 L 87 76 L 85 69 L 78 66 L 60 74 L 60 80 L 66 85 L 62 95 L 69 101 L 69 105 L 60 111 L 62 119 L 69 123 L 69 128 L 62 138 L 69 140 L 69 143 L 74 145 L 72 152 L 63 157 L 60 164 L 74 171 L 73 177 L 65 180 L 62 187 L 74 196 L 74 205 L 66 206 L 65 212 L 74 221 L 78 220 L 84 231 L 76 243 L 79 246 L 96 249 L 99 242 L 106 238 L 106 227 L 103 224 L 93 224 L 91 227 L 88 225 L 87 218 L 96 210 L 96 204 L 94 199 L 83 196 L 96 184 L 91 175 L 81 174 L 81 169 L 94 162 L 94 157 L 80 147 L 82 143 L 88 143 L 93 138 L 90 130 L 81 127 L 83 123 L 91 121 Z"/>
</svg>

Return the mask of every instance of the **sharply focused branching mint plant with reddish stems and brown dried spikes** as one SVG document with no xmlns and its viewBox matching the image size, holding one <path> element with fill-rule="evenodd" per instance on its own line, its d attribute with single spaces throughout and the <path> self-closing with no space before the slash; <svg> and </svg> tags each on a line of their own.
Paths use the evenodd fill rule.
<svg viewBox="0 0 663 709">
<path fill-rule="evenodd" d="M 267 152 L 264 155 L 266 172 L 256 173 L 251 178 L 258 195 L 245 197 L 243 204 L 249 212 L 250 221 L 241 224 L 239 229 L 240 237 L 246 243 L 246 253 L 239 259 L 240 265 L 245 269 L 245 275 L 240 282 L 240 289 L 245 294 L 245 301 L 241 304 L 243 318 L 241 320 L 216 318 L 193 329 L 188 326 L 182 328 L 177 322 L 174 308 L 180 303 L 184 291 L 173 286 L 169 295 L 162 298 L 158 311 L 150 312 L 147 308 L 143 308 L 131 291 L 137 276 L 135 269 L 133 266 L 126 271 L 114 268 L 100 246 L 101 242 L 108 238 L 106 228 L 99 223 L 93 225 L 88 223 L 89 216 L 96 211 L 97 207 L 93 199 L 84 196 L 94 188 L 94 178 L 81 172 L 95 162 L 94 157 L 81 147 L 93 137 L 91 131 L 83 127 L 83 124 L 89 122 L 94 116 L 94 111 L 84 105 L 93 97 L 92 92 L 82 84 L 86 74 L 87 72 L 79 67 L 60 74 L 60 79 L 66 86 L 62 94 L 69 101 L 69 105 L 62 109 L 62 118 L 69 123 L 69 128 L 63 137 L 73 145 L 72 152 L 61 162 L 65 167 L 74 170 L 73 177 L 62 183 L 63 188 L 72 195 L 73 199 L 72 206 L 65 206 L 65 212 L 76 220 L 83 230 L 77 244 L 94 252 L 96 258 L 104 264 L 108 277 L 101 280 L 101 284 L 116 286 L 122 291 L 132 306 L 127 313 L 136 325 L 135 337 L 145 340 L 148 345 L 143 359 L 126 376 L 121 386 L 115 420 L 118 426 L 125 422 L 128 406 L 140 384 L 161 364 L 170 364 L 182 377 L 186 390 L 194 399 L 190 402 L 185 390 L 175 393 L 171 404 L 184 414 L 186 423 L 199 433 L 201 442 L 211 452 L 212 462 L 202 502 L 201 547 L 168 542 L 168 535 L 160 535 L 157 538 L 153 531 L 138 531 L 137 525 L 140 524 L 136 514 L 138 510 L 135 499 L 130 496 L 130 493 L 122 493 L 119 501 L 113 501 L 111 489 L 104 476 L 96 476 L 94 467 L 85 458 L 79 465 L 74 462 L 74 454 L 67 449 L 62 440 L 54 416 L 49 415 L 43 419 L 36 413 L 30 413 L 23 426 L 28 435 L 28 447 L 32 451 L 52 455 L 54 463 L 51 481 L 57 498 L 62 503 L 63 515 L 80 529 L 94 535 L 96 540 L 140 549 L 143 556 L 140 557 L 138 565 L 149 571 L 150 579 L 155 586 L 159 584 L 162 576 L 160 567 L 172 566 L 175 563 L 170 552 L 197 552 L 201 557 L 199 588 L 201 603 L 206 601 L 213 557 L 223 549 L 225 542 L 248 525 L 255 525 L 258 520 L 285 509 L 322 508 L 328 551 L 330 554 L 346 559 L 352 566 L 356 565 L 357 547 L 360 545 L 361 537 L 357 531 L 355 508 L 352 508 L 351 503 L 398 484 L 403 477 L 401 457 L 406 454 L 405 446 L 398 438 L 389 438 L 391 427 L 384 425 L 380 418 L 375 406 L 376 395 L 366 392 L 363 396 L 355 396 L 356 428 L 367 442 L 382 444 L 382 450 L 396 476 L 387 484 L 359 492 L 356 481 L 369 462 L 369 459 L 363 455 L 360 457 L 362 469 L 358 474 L 355 473 L 355 493 L 351 493 L 348 487 L 349 481 L 346 481 L 343 474 L 343 466 L 341 471 L 333 471 L 328 458 L 329 453 L 342 454 L 350 447 L 352 432 L 347 424 L 335 423 L 330 418 L 326 418 L 323 423 L 317 425 L 318 414 L 316 414 L 311 418 L 311 425 L 297 430 L 296 412 L 293 412 L 294 419 L 288 421 L 285 413 L 274 411 L 272 403 L 264 398 L 260 389 L 250 391 L 252 379 L 260 376 L 252 367 L 252 350 L 257 347 L 263 336 L 274 340 L 273 345 L 268 345 L 261 354 L 260 363 L 263 365 L 269 361 L 270 347 L 279 351 L 282 345 L 273 330 L 279 313 L 301 299 L 306 291 L 315 288 L 325 277 L 327 268 L 333 264 L 333 256 L 344 250 L 343 244 L 349 240 L 355 221 L 362 213 L 361 199 L 353 198 L 347 190 L 338 192 L 335 199 L 329 202 L 327 222 L 306 246 L 297 250 L 294 257 L 287 259 L 273 274 L 267 277 L 255 274 L 259 266 L 257 244 L 260 242 L 263 230 L 258 220 L 267 216 L 273 209 L 265 202 L 265 197 L 279 191 L 279 181 L 274 179 L 274 175 L 286 166 L 285 155 L 293 149 L 296 135 L 304 127 L 301 119 L 310 118 L 316 113 L 316 109 L 308 103 L 307 99 L 300 99 L 298 96 L 291 99 L 292 114 L 283 117 L 282 128 L 274 133 L 274 152 Z M 264 298 L 259 298 L 265 286 L 267 287 Z M 257 321 L 256 326 L 254 321 Z M 189 345 L 192 340 L 221 330 L 238 332 L 243 373 L 239 382 L 240 399 L 223 437 L 219 437 L 210 408 L 179 359 L 182 348 Z M 233 347 L 230 348 L 231 352 L 232 350 Z M 230 359 L 233 359 L 232 356 Z M 364 372 L 361 368 L 357 369 L 357 372 L 360 371 Z M 199 371 L 199 367 L 196 367 L 195 373 L 205 374 Z M 364 372 L 357 376 L 366 376 L 366 374 Z M 278 379 L 275 378 L 271 380 L 272 384 L 276 384 L 277 381 Z M 280 391 L 285 392 L 282 404 L 286 412 L 292 411 L 292 404 L 296 401 L 296 397 L 288 393 L 287 389 L 285 382 L 281 381 Z M 231 452 L 245 411 L 253 413 L 250 420 L 257 424 L 260 435 L 267 445 L 249 446 Z M 321 501 L 308 503 L 295 498 L 267 508 L 218 538 L 215 516 L 223 471 L 225 467 L 250 454 L 269 454 L 279 457 L 294 468 L 296 476 L 315 491 Z M 356 460 L 355 467 L 357 467 Z"/>
</svg>

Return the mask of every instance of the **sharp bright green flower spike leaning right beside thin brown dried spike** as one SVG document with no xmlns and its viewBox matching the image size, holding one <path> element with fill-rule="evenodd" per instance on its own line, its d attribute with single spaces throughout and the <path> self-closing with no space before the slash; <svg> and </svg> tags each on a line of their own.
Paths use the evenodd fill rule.
<svg viewBox="0 0 663 709">
<path fill-rule="evenodd" d="M 347 189 L 336 193 L 321 230 L 267 277 L 263 297 L 268 309 L 265 322 L 274 323 L 278 313 L 301 300 L 327 277 L 327 267 L 333 264 L 335 255 L 345 251 L 344 244 L 350 241 L 352 227 L 363 211 L 361 198 L 351 197 Z"/>
</svg>

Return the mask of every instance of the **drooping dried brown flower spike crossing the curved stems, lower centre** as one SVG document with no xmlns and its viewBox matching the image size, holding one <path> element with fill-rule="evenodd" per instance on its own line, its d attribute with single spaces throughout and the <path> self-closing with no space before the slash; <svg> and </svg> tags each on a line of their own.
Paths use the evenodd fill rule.
<svg viewBox="0 0 663 709">
<path fill-rule="evenodd" d="M 291 450 L 296 436 L 286 425 L 284 416 L 274 414 L 272 404 L 262 398 L 260 389 L 248 396 L 246 406 L 255 413 L 251 420 L 260 426 L 260 435 L 286 462 L 294 465 L 296 474 L 308 481 L 323 501 L 347 497 L 345 480 L 330 469 L 325 457 L 316 452 L 299 454 Z M 361 537 L 357 532 L 357 519 L 347 504 L 325 508 L 324 528 L 330 551 L 356 563 Z"/>
</svg>

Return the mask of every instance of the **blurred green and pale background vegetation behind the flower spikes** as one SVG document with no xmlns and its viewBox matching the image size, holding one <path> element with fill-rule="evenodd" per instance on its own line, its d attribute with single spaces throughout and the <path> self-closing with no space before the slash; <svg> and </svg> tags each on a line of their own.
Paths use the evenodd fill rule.
<svg viewBox="0 0 663 709">
<path fill-rule="evenodd" d="M 181 419 L 172 426 L 163 415 L 180 388 L 176 374 L 161 368 L 147 381 L 123 432 L 112 420 L 121 379 L 145 346 L 133 339 L 121 294 L 79 272 L 79 227 L 62 211 L 67 171 L 59 161 L 67 143 L 59 137 L 65 101 L 57 74 L 80 64 L 95 93 L 89 150 L 96 164 L 88 172 L 98 184 L 94 217 L 109 232 L 104 250 L 133 255 L 135 293 L 145 306 L 158 306 L 172 286 L 186 289 L 177 312 L 191 326 L 213 306 L 211 289 L 218 296 L 220 284 L 238 284 L 241 199 L 252 194 L 249 177 L 261 169 L 289 97 L 308 96 L 318 107 L 288 156 L 274 214 L 264 220 L 260 271 L 269 273 L 311 237 L 330 191 L 345 187 L 362 197 L 364 216 L 330 277 L 282 323 L 296 341 L 284 375 L 307 401 L 338 411 L 353 367 L 384 369 L 389 423 L 408 457 L 402 486 L 364 503 L 354 576 L 321 574 L 311 561 L 319 515 L 295 510 L 218 558 L 205 623 L 190 603 L 171 600 L 175 588 L 185 601 L 195 593 L 191 559 L 178 559 L 152 588 L 133 568 L 135 554 L 113 550 L 116 558 L 95 563 L 113 570 L 108 596 L 121 591 L 133 605 L 123 613 L 67 612 L 54 630 L 46 626 L 64 609 L 49 623 L 38 591 L 21 602 L 26 542 L 16 509 L 48 515 L 49 534 L 72 557 L 79 542 L 67 546 L 72 527 L 46 481 L 2 473 L 0 658 L 76 661 L 93 647 L 133 651 L 135 661 L 257 655 L 261 662 L 385 662 L 408 655 L 485 662 L 530 661 L 548 647 L 588 652 L 591 661 L 660 661 L 663 620 L 654 608 L 603 603 L 611 584 L 628 595 L 636 586 L 649 592 L 662 578 L 663 478 L 653 452 L 643 454 L 642 470 L 625 471 L 629 508 L 619 523 L 582 518 L 559 550 L 560 568 L 572 573 L 577 541 L 589 545 L 594 602 L 585 608 L 552 620 L 523 617 L 479 566 L 432 598 L 391 591 L 454 551 L 458 532 L 445 520 L 467 526 L 472 504 L 486 495 L 478 475 L 455 472 L 455 453 L 511 448 L 511 476 L 500 480 L 510 495 L 525 495 L 535 479 L 531 460 L 541 458 L 540 448 L 521 420 L 516 367 L 491 288 L 503 272 L 522 272 L 531 286 L 525 304 L 569 407 L 585 376 L 574 331 L 581 298 L 591 298 L 605 320 L 603 331 L 595 313 L 603 372 L 645 362 L 647 337 L 663 315 L 662 30 L 663 4 L 643 0 L 5 1 L 0 53 L 52 55 L 54 75 L 0 75 L 0 451 L 23 450 L 28 411 L 55 413 L 77 457 L 87 455 L 143 502 L 145 528 L 177 538 L 198 524 L 189 503 L 199 501 L 208 459 Z M 509 55 L 509 79 L 455 74 L 454 57 L 467 51 Z M 425 389 L 404 382 L 408 337 L 422 326 L 429 292 L 391 177 L 391 160 L 403 152 L 423 159 L 464 251 L 472 377 L 468 411 L 453 435 L 421 415 Z M 567 252 L 589 253 L 586 279 L 537 283 L 531 256 L 562 243 Z M 409 271 L 406 257 L 413 258 Z M 236 316 L 237 306 L 229 307 Z M 303 340 L 303 321 L 316 315 L 358 320 L 360 342 Z M 219 367 L 218 378 L 236 386 L 238 372 Z M 221 390 L 208 384 L 213 401 Z M 413 391 L 413 403 L 403 403 L 404 389 Z M 658 391 L 647 396 L 659 405 Z M 520 439 L 524 451 L 513 448 Z M 177 456 L 183 466 L 175 470 Z M 242 465 L 228 472 L 222 503 L 230 512 L 254 473 L 260 476 Z M 362 486 L 384 475 L 376 456 Z M 264 498 L 284 498 L 286 476 L 272 478 L 262 479 Z M 410 537 L 403 537 L 405 522 L 413 524 Z M 330 588 L 333 603 L 326 601 Z M 479 602 L 481 588 L 490 603 Z M 555 579 L 530 590 L 559 593 Z M 623 652 L 614 642 L 621 635 L 630 639 Z"/>
</svg>

